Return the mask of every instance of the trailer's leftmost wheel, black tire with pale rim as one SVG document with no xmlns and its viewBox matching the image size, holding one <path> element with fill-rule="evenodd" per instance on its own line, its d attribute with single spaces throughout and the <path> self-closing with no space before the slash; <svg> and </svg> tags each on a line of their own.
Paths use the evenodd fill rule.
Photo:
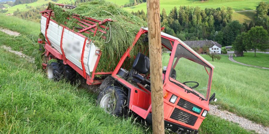
<svg viewBox="0 0 269 134">
<path fill-rule="evenodd" d="M 62 78 L 63 68 L 60 63 L 52 62 L 47 65 L 46 73 L 49 79 L 59 81 Z"/>
</svg>

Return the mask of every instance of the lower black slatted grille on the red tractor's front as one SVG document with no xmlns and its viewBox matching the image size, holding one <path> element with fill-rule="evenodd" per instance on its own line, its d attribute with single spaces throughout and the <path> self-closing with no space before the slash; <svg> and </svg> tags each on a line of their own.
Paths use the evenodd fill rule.
<svg viewBox="0 0 269 134">
<path fill-rule="evenodd" d="M 197 121 L 198 117 L 194 116 L 190 113 L 187 113 L 183 110 L 175 108 L 172 115 L 170 116 L 171 119 L 183 122 L 185 124 L 194 126 L 195 122 Z"/>
</svg>

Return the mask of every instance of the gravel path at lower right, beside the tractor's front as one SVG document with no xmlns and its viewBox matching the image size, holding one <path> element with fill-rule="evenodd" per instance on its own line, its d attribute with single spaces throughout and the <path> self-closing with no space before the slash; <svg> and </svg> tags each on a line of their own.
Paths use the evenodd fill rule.
<svg viewBox="0 0 269 134">
<path fill-rule="evenodd" d="M 230 113 L 226 110 L 219 110 L 216 105 L 209 105 L 209 113 L 218 116 L 222 119 L 238 123 L 239 126 L 247 130 L 254 130 L 256 133 L 269 134 L 269 127 L 264 127 L 261 124 L 253 123 L 252 121 L 243 117 L 237 116 L 236 114 Z"/>
</svg>

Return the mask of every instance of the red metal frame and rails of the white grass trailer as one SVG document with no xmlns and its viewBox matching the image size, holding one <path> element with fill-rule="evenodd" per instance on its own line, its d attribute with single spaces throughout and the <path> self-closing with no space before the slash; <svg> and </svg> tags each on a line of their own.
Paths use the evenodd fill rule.
<svg viewBox="0 0 269 134">
<path fill-rule="evenodd" d="M 76 8 L 76 6 L 71 6 L 71 5 L 64 5 L 64 4 L 56 4 L 66 10 L 68 9 L 74 9 Z M 87 80 L 87 84 L 89 85 L 93 85 L 93 84 L 101 84 L 102 83 L 102 80 L 94 80 L 94 75 L 104 75 L 104 74 L 112 74 L 112 72 L 95 72 L 96 71 L 96 68 L 98 66 L 98 63 L 99 63 L 99 60 L 100 60 L 100 56 L 102 54 L 102 52 L 100 52 L 100 54 L 97 54 L 98 55 L 98 58 L 97 58 L 97 61 L 95 63 L 95 66 L 93 68 L 93 71 L 91 73 L 91 76 L 89 76 L 88 74 L 86 74 L 86 71 L 85 71 L 85 67 L 84 67 L 84 62 L 83 62 L 83 58 L 84 58 L 84 50 L 85 50 L 85 44 L 86 44 L 86 41 L 88 40 L 88 38 L 84 35 L 82 35 L 82 33 L 86 33 L 86 34 L 89 34 L 88 37 L 93 37 L 93 36 L 96 36 L 97 35 L 97 32 L 100 33 L 99 35 L 103 38 L 103 39 L 106 39 L 106 36 L 105 34 L 107 34 L 106 31 L 109 30 L 110 27 L 107 27 L 108 25 L 105 25 L 106 23 L 109 23 L 111 22 L 112 20 L 111 19 L 105 19 L 103 21 L 100 21 L 100 20 L 97 20 L 97 19 L 94 19 L 94 18 L 90 18 L 90 17 L 80 17 L 80 15 L 77 15 L 77 14 L 72 14 L 70 15 L 69 17 L 67 17 L 67 20 L 71 20 L 72 19 L 77 19 L 77 24 L 80 25 L 81 27 L 66 27 L 65 25 L 63 24 L 59 24 L 57 23 L 56 21 L 54 21 L 54 12 L 52 9 L 49 9 L 49 6 L 46 10 L 44 11 L 41 11 L 40 13 L 42 13 L 42 16 L 43 17 L 46 17 L 47 18 L 47 21 L 46 21 L 46 29 L 45 29 L 45 38 L 47 40 L 46 44 L 45 44 L 45 54 L 48 56 L 49 54 L 52 54 L 53 55 L 53 58 L 57 58 L 59 60 L 64 60 L 64 64 L 68 64 L 69 66 L 71 66 L 75 71 L 77 71 L 80 75 L 82 75 L 86 80 Z M 49 27 L 49 23 L 50 21 L 60 25 L 63 27 L 62 29 L 62 35 L 61 35 L 61 44 L 60 44 L 60 47 L 61 47 L 61 51 L 62 51 L 62 54 L 60 54 L 56 49 L 54 49 L 52 46 L 51 46 L 51 43 L 47 37 L 47 29 Z M 65 22 L 66 24 L 67 22 Z M 79 67 L 77 67 L 74 63 L 72 63 L 70 60 L 66 59 L 65 57 L 65 53 L 64 53 L 64 50 L 62 48 L 63 44 L 62 44 L 62 38 L 63 38 L 63 34 L 64 34 L 64 30 L 69 30 L 71 32 L 74 32 L 75 34 L 85 38 L 85 41 L 84 41 L 84 44 L 83 44 L 83 48 L 82 48 L 82 54 L 81 54 L 81 65 L 82 65 L 82 69 L 80 69 Z M 77 29 L 77 32 L 74 31 L 74 29 Z M 45 63 L 42 63 L 43 65 L 43 68 L 45 69 L 47 64 Z"/>
</svg>

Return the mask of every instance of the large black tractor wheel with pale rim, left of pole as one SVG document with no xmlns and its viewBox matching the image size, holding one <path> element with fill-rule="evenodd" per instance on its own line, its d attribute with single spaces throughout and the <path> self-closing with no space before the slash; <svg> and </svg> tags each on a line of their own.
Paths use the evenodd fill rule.
<svg viewBox="0 0 269 134">
<path fill-rule="evenodd" d="M 108 86 L 97 97 L 97 105 L 104 108 L 106 113 L 115 116 L 127 116 L 127 94 L 117 86 Z"/>
</svg>

